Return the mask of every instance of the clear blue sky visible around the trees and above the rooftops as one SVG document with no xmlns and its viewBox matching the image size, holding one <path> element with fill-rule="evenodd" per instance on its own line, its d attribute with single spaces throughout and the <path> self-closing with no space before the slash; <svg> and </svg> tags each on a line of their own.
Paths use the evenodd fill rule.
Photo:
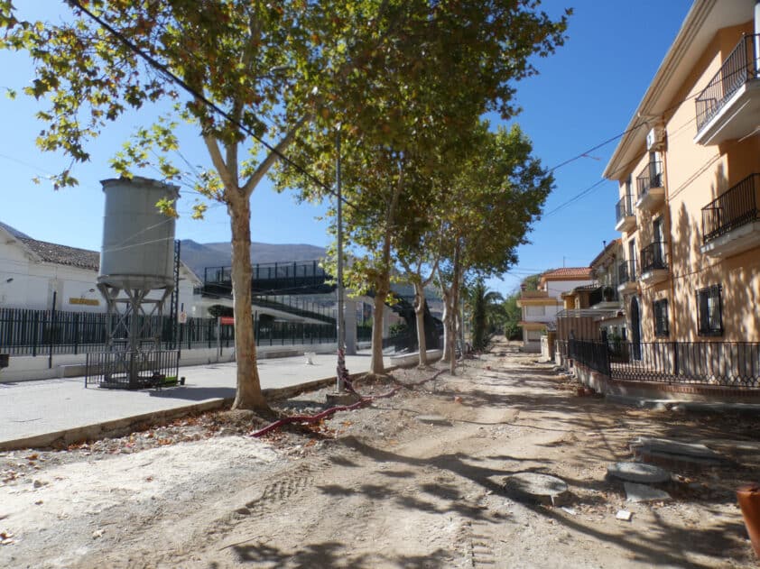
<svg viewBox="0 0 760 569">
<path fill-rule="evenodd" d="M 16 0 L 25 17 L 39 17 L 47 2 Z M 524 111 L 516 117 L 533 139 L 534 153 L 552 167 L 622 132 L 653 75 L 663 60 L 690 0 L 544 0 L 552 15 L 572 6 L 570 39 L 551 58 L 537 60 L 541 74 L 517 85 L 517 101 Z M 61 13 L 66 8 L 61 8 Z M 29 61 L 0 52 L 0 87 L 21 90 L 32 78 Z M 134 115 L 107 130 L 90 149 L 92 161 L 77 165 L 73 175 L 79 188 L 54 191 L 34 176 L 60 171 L 66 159 L 42 153 L 34 139 L 42 124 L 34 119 L 36 104 L 26 96 L 11 101 L 0 96 L 4 136 L 0 138 L 0 221 L 35 239 L 98 250 L 102 232 L 103 197 L 100 179 L 112 178 L 107 160 L 135 124 L 151 115 Z M 493 119 L 492 119 L 493 120 Z M 182 130 L 183 154 L 193 163 L 208 163 L 199 136 Z M 557 170 L 557 188 L 544 210 L 551 212 L 581 190 L 597 182 L 616 143 Z M 531 272 L 566 266 L 585 266 L 601 251 L 602 242 L 615 239 L 617 188 L 601 184 L 557 214 L 547 215 L 533 227 L 531 244 L 519 249 L 519 263 L 504 280 L 490 280 L 492 289 L 507 293 Z M 193 197 L 187 194 L 181 214 L 189 214 Z M 315 220 L 323 208 L 296 204 L 292 194 L 278 195 L 265 183 L 253 197 L 254 241 L 265 243 L 329 243 L 327 223 Z M 494 228 L 496 231 L 497 227 Z M 229 240 L 224 207 L 209 209 L 206 219 L 181 217 L 177 236 L 199 243 Z"/>
</svg>

